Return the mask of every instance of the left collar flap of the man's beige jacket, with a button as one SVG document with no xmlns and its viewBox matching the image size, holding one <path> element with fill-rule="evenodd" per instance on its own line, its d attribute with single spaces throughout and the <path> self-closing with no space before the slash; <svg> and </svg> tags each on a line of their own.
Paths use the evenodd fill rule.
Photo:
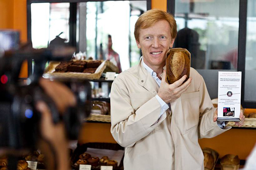
<svg viewBox="0 0 256 170">
<path fill-rule="evenodd" d="M 138 84 L 144 87 L 147 91 L 151 92 L 154 96 L 156 96 L 159 90 L 159 86 L 156 83 L 156 80 L 154 80 L 152 75 L 150 75 L 147 69 L 145 69 L 145 67 L 143 66 L 142 57 L 140 57 L 140 62 L 138 64 Z"/>
</svg>

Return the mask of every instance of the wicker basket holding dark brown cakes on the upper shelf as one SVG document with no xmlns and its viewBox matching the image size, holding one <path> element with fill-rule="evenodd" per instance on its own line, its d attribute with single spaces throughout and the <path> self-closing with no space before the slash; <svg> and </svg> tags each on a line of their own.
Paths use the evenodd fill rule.
<svg viewBox="0 0 256 170">
<path fill-rule="evenodd" d="M 75 60 L 74 60 L 75 61 Z M 83 60 L 87 62 L 92 62 L 93 60 Z M 76 73 L 76 72 L 70 72 L 70 73 L 55 73 L 55 67 L 59 65 L 60 62 L 51 61 L 48 65 L 48 67 L 45 69 L 45 74 L 43 74 L 43 77 L 45 78 L 79 78 L 79 79 L 100 79 L 100 76 L 102 75 L 104 69 L 107 67 L 107 61 L 103 61 L 100 66 L 96 69 L 95 73 Z M 111 64 L 109 64 L 111 65 Z"/>
</svg>

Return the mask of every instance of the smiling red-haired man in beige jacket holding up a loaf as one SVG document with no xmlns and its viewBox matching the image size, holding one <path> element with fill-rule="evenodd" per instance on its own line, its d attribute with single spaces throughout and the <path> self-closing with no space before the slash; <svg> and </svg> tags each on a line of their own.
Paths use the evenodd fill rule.
<svg viewBox="0 0 256 170">
<path fill-rule="evenodd" d="M 142 14 L 134 31 L 140 63 L 111 86 L 111 134 L 125 147 L 125 170 L 204 170 L 198 138 L 231 128 L 216 122 L 217 111 L 196 70 L 190 69 L 187 81 L 183 76 L 166 83 L 166 52 L 176 34 L 170 14 L 158 9 Z M 240 118 L 239 126 L 243 114 Z"/>
</svg>

